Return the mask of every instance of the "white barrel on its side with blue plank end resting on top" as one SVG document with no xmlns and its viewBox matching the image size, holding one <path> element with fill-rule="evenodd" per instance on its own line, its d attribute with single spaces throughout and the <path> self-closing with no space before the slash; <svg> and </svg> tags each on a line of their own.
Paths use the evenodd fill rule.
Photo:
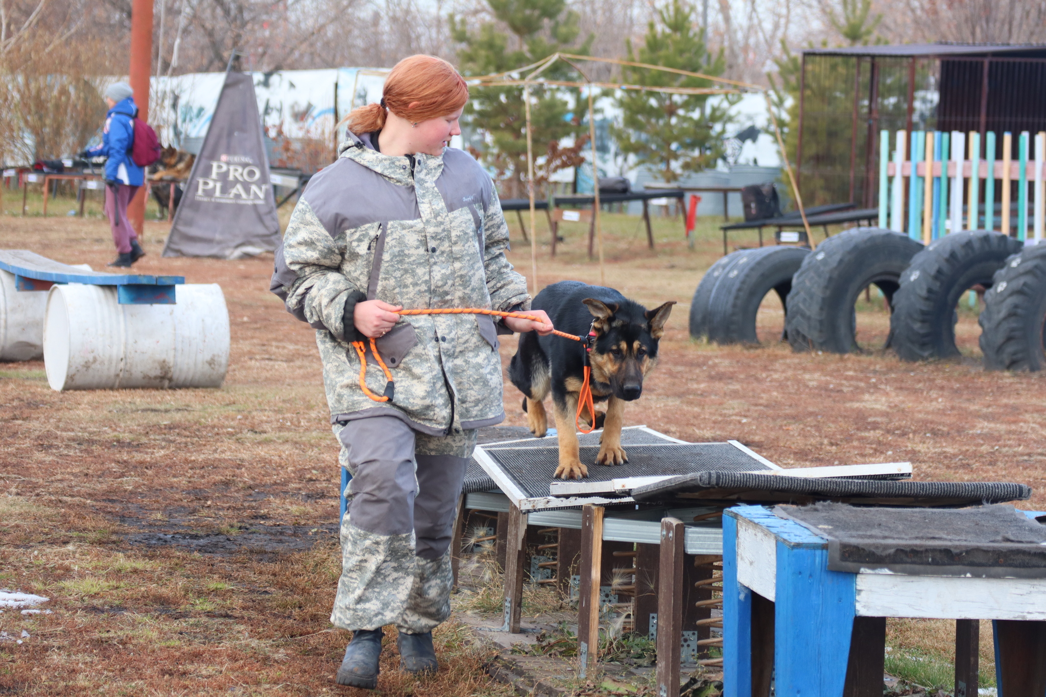
<svg viewBox="0 0 1046 697">
<path fill-rule="evenodd" d="M 178 285 L 175 297 L 174 305 L 120 305 L 115 286 L 52 286 L 44 318 L 51 389 L 221 387 L 229 367 L 222 288 Z"/>
</svg>

